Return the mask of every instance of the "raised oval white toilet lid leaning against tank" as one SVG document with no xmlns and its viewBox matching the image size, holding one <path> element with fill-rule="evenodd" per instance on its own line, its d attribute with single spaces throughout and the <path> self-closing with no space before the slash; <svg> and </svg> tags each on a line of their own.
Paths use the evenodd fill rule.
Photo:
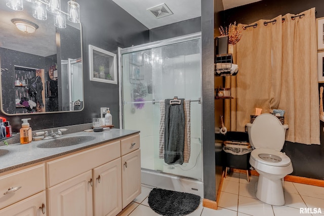
<svg viewBox="0 0 324 216">
<path fill-rule="evenodd" d="M 251 140 L 256 149 L 280 151 L 285 143 L 284 126 L 276 116 L 261 114 L 251 126 Z"/>
</svg>

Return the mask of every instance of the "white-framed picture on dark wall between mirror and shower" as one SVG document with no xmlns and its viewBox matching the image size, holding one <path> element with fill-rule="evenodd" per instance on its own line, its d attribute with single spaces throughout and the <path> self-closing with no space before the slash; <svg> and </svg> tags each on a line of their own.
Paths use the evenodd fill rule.
<svg viewBox="0 0 324 216">
<path fill-rule="evenodd" d="M 116 54 L 89 45 L 90 80 L 117 84 Z"/>
</svg>

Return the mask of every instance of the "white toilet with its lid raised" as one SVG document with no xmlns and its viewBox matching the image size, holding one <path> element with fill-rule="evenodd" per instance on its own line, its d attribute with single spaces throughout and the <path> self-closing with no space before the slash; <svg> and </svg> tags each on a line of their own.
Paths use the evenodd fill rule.
<svg viewBox="0 0 324 216">
<path fill-rule="evenodd" d="M 288 124 L 282 125 L 272 114 L 261 114 L 246 126 L 250 144 L 255 147 L 251 152 L 250 164 L 259 173 L 256 196 L 271 205 L 284 205 L 283 178 L 293 172 L 290 158 L 280 152 Z"/>
</svg>

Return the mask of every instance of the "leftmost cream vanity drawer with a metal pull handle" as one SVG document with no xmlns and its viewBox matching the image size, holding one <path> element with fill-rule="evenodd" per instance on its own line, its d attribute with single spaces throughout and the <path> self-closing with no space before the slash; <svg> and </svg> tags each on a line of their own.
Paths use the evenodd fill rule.
<svg viewBox="0 0 324 216">
<path fill-rule="evenodd" d="M 18 189 L 21 187 L 20 189 Z M 10 192 L 9 188 L 18 190 Z M 14 189 L 12 189 L 14 190 Z M 0 177 L 0 208 L 45 190 L 45 165 L 37 165 Z M 6 193 L 7 194 L 4 194 Z"/>
</svg>

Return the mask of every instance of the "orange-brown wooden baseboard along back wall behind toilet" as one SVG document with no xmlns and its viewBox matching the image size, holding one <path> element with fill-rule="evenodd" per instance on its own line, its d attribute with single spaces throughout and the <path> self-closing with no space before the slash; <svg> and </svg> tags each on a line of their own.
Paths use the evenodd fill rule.
<svg viewBox="0 0 324 216">
<path fill-rule="evenodd" d="M 246 174 L 247 171 L 244 169 L 231 169 L 233 172 L 239 172 L 242 174 Z M 258 172 L 256 170 L 250 170 L 251 176 L 259 176 Z M 319 179 L 310 179 L 306 177 L 300 177 L 300 176 L 291 176 L 288 175 L 285 177 L 285 181 L 287 182 L 295 182 L 295 183 L 301 183 L 305 185 L 313 185 L 313 186 L 319 186 L 319 187 L 324 187 L 324 180 L 319 180 Z"/>
</svg>

